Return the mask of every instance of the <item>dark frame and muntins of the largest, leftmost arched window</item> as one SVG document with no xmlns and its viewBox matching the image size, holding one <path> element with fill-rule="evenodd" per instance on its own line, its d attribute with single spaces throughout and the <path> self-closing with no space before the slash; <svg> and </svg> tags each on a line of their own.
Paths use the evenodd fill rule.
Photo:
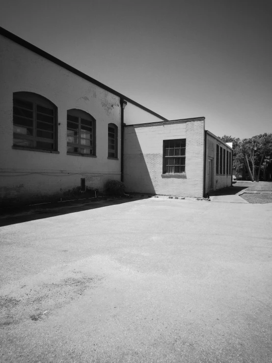
<svg viewBox="0 0 272 363">
<path fill-rule="evenodd" d="M 19 106 L 19 103 L 16 104 L 16 100 L 19 101 L 19 103 L 20 103 L 20 101 L 31 103 L 32 110 L 29 108 L 27 109 L 26 107 L 23 107 L 23 106 Z M 37 106 L 52 110 L 53 114 L 50 115 L 48 113 L 37 111 Z M 32 112 L 32 118 L 24 116 L 22 114 L 20 114 L 20 115 L 16 114 L 16 112 L 17 112 L 17 111 L 15 112 L 16 109 L 17 109 L 17 111 L 18 111 L 18 109 L 21 110 L 21 112 L 23 110 L 23 113 Z M 52 117 L 53 122 L 49 122 L 44 119 L 38 120 L 37 118 L 39 117 L 39 115 L 40 115 L 40 117 L 41 117 L 41 115 L 45 116 L 45 117 Z M 16 121 L 15 121 L 16 117 L 20 117 L 21 119 L 25 119 L 25 120 L 31 120 L 32 126 L 27 126 L 27 125 L 22 125 L 22 124 L 20 125 L 19 123 L 16 123 Z M 38 127 L 38 123 L 41 124 L 40 128 Z M 48 125 L 48 129 L 41 129 L 43 124 Z M 32 135 L 15 132 L 14 130 L 16 127 L 32 129 Z M 45 126 L 43 126 L 43 127 L 45 127 Z M 50 130 L 50 127 L 52 128 L 52 130 Z M 51 139 L 51 138 L 37 136 L 37 131 L 52 134 L 53 138 Z M 14 140 L 16 140 L 16 139 L 32 141 L 32 145 L 17 144 L 14 142 Z M 57 107 L 54 105 L 54 103 L 52 101 L 48 100 L 47 98 L 45 98 L 44 96 L 41 96 L 37 93 L 26 92 L 26 91 L 14 92 L 13 93 L 13 146 L 12 147 L 23 149 L 23 150 L 26 149 L 26 150 L 34 150 L 34 151 L 57 152 L 57 140 L 58 140 Z M 37 147 L 37 142 L 51 144 L 52 148 L 46 148 L 46 147 L 43 147 L 42 145 L 39 145 Z"/>
</svg>

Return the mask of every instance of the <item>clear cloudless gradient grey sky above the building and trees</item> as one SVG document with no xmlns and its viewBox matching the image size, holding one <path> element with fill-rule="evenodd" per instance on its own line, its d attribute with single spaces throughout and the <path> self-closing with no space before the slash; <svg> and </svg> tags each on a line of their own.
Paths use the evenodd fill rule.
<svg viewBox="0 0 272 363">
<path fill-rule="evenodd" d="M 0 0 L 0 26 L 166 117 L 272 132 L 272 0 Z"/>
</svg>

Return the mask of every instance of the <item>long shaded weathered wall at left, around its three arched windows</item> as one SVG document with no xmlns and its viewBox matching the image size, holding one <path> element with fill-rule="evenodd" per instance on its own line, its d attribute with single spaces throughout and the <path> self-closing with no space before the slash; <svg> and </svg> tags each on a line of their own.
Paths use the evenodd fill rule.
<svg viewBox="0 0 272 363">
<path fill-rule="evenodd" d="M 0 35 L 0 197 L 33 198 L 80 186 L 102 189 L 120 180 L 119 97 L 91 84 Z M 58 152 L 16 150 L 13 145 L 13 92 L 28 91 L 52 101 L 58 111 Z M 81 109 L 96 119 L 96 155 L 67 155 L 66 115 Z M 108 159 L 108 123 L 118 126 L 119 160 Z"/>
</svg>

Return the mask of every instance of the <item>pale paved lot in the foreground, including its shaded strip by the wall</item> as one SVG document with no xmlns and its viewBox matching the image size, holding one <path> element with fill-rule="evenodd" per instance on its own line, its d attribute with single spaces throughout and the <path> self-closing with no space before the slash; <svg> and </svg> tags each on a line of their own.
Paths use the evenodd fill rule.
<svg viewBox="0 0 272 363">
<path fill-rule="evenodd" d="M 2 220 L 0 362 L 272 362 L 272 204 L 107 203 Z"/>
</svg>

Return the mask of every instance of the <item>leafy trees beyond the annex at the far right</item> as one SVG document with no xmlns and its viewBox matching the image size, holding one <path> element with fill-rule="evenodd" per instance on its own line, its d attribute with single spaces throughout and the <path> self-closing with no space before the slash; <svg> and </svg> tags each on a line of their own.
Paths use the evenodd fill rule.
<svg viewBox="0 0 272 363">
<path fill-rule="evenodd" d="M 251 181 L 259 181 L 261 170 L 263 180 L 267 180 L 267 169 L 272 165 L 272 134 L 261 134 L 240 140 L 231 136 L 218 137 L 224 142 L 232 142 L 233 168 L 247 170 Z"/>
</svg>

